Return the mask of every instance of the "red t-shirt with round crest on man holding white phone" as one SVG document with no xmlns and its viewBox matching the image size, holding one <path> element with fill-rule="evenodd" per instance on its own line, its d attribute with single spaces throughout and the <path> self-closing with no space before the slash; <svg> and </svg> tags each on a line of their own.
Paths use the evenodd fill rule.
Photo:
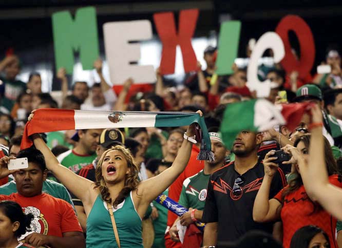
<svg viewBox="0 0 342 248">
<path fill-rule="evenodd" d="M 63 237 L 66 232 L 82 232 L 72 206 L 62 199 L 45 193 L 34 197 L 13 193 L 0 195 L 1 200 L 15 201 L 22 206 L 23 212 L 33 214 L 31 231 L 34 233 Z"/>
</svg>

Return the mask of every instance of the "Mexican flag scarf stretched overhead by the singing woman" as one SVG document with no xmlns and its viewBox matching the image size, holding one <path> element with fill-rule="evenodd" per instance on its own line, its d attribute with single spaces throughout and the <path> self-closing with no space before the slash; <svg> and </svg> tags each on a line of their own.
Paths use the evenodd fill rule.
<svg viewBox="0 0 342 248">
<path fill-rule="evenodd" d="M 214 160 L 209 134 L 204 118 L 198 113 L 143 112 L 143 111 L 91 111 L 41 108 L 34 112 L 24 130 L 21 149 L 30 147 L 33 133 L 72 129 L 121 128 L 121 127 L 179 127 L 198 123 L 201 132 L 196 140 L 201 142 L 199 160 Z"/>
</svg>

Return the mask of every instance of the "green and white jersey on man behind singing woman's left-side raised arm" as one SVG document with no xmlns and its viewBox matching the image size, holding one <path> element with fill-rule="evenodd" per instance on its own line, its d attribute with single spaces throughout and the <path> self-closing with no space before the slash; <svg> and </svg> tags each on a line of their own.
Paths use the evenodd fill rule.
<svg viewBox="0 0 342 248">
<path fill-rule="evenodd" d="M 82 167 L 91 164 L 92 161 L 96 159 L 96 157 L 96 153 L 94 153 L 93 155 L 79 155 L 76 154 L 73 150 L 68 150 L 58 156 L 57 159 L 62 165 L 76 173 L 77 171 L 82 169 Z"/>
</svg>

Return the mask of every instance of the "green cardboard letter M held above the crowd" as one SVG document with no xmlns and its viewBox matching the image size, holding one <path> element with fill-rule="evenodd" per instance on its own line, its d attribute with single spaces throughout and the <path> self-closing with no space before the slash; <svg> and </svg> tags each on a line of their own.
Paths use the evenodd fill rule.
<svg viewBox="0 0 342 248">
<path fill-rule="evenodd" d="M 52 29 L 56 71 L 65 67 L 67 73 L 72 73 L 73 51 L 80 52 L 83 70 L 91 70 L 94 61 L 99 58 L 96 9 L 80 8 L 74 20 L 69 11 L 56 12 L 52 14 Z"/>
</svg>

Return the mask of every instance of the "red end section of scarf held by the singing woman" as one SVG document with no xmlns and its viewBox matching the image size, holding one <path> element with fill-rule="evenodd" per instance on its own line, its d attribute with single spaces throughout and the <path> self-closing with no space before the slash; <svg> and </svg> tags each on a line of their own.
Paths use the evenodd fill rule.
<svg viewBox="0 0 342 248">
<path fill-rule="evenodd" d="M 75 129 L 74 114 L 72 109 L 37 109 L 34 118 L 26 123 L 20 148 L 25 149 L 33 145 L 32 140 L 29 139 L 33 133 Z"/>
</svg>

